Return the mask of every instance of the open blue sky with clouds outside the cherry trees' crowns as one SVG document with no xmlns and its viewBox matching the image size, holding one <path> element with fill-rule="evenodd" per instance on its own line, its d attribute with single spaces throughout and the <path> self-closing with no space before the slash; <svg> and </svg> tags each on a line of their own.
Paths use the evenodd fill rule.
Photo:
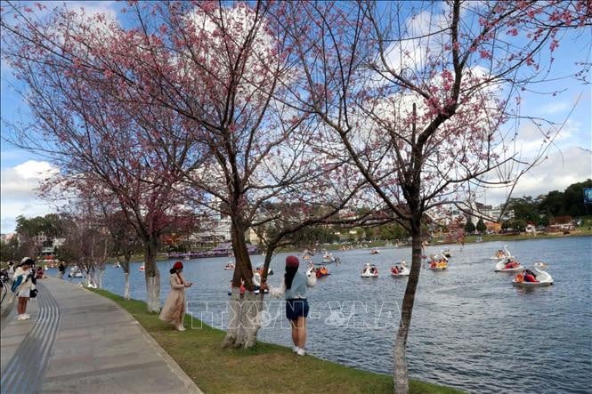
<svg viewBox="0 0 592 394">
<path fill-rule="evenodd" d="M 61 2 L 44 2 L 48 8 Z M 70 9 L 84 6 L 85 12 L 118 14 L 121 3 L 114 1 L 69 2 Z M 120 20 L 121 21 L 121 20 Z M 122 21 L 122 23 L 125 23 Z M 583 36 L 583 37 L 582 37 Z M 537 85 L 538 92 L 523 92 L 521 111 L 532 117 L 563 124 L 547 159 L 525 174 L 517 184 L 513 197 L 525 195 L 536 197 L 550 190 L 563 190 L 577 181 L 592 178 L 592 90 L 590 84 L 582 84 L 563 76 L 572 73 L 575 60 L 588 57 L 590 60 L 590 31 L 580 36 L 565 37 L 556 50 L 556 64 L 549 81 Z M 582 55 L 583 54 L 583 55 Z M 589 79 L 588 75 L 588 79 Z M 28 109 L 15 87 L 20 84 L 12 76 L 12 70 L 2 60 L 0 69 L 0 97 L 2 122 L 0 133 L 7 133 L 7 123 L 27 122 Z M 559 91 L 554 96 L 550 92 Z M 525 155 L 539 148 L 540 139 L 536 129 L 529 123 L 519 125 L 517 143 Z M 55 212 L 56 206 L 38 196 L 39 181 L 56 169 L 43 157 L 16 149 L 6 141 L 0 141 L 0 220 L 1 232 L 12 232 L 19 215 L 27 217 Z M 507 198 L 507 190 L 489 189 L 480 198 L 486 204 L 495 205 Z"/>
</svg>

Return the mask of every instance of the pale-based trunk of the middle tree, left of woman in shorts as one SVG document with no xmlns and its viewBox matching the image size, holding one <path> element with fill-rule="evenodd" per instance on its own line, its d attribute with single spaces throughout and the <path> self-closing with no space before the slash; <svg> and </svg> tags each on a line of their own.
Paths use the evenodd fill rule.
<svg viewBox="0 0 592 394">
<path fill-rule="evenodd" d="M 228 323 L 226 337 L 222 345 L 224 348 L 251 347 L 255 343 L 247 341 L 249 324 L 254 319 L 252 306 L 255 301 L 253 293 L 253 269 L 247 251 L 247 240 L 245 239 L 245 229 L 237 221 L 231 224 L 232 250 L 236 259 L 236 267 L 232 276 L 231 285 L 231 318 Z M 240 295 L 241 281 L 245 282 L 246 292 L 244 296 Z M 256 315 L 256 313 L 255 313 Z M 247 328 L 247 331 L 246 331 Z"/>
</svg>

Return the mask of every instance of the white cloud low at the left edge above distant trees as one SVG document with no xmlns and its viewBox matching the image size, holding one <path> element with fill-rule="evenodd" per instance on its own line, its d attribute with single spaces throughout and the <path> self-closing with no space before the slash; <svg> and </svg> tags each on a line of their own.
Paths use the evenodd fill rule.
<svg viewBox="0 0 592 394">
<path fill-rule="evenodd" d="M 28 160 L 2 170 L 0 201 L 2 232 L 14 230 L 19 215 L 38 216 L 55 211 L 53 206 L 36 195 L 40 182 L 56 173 L 57 169 L 45 161 Z"/>
</svg>

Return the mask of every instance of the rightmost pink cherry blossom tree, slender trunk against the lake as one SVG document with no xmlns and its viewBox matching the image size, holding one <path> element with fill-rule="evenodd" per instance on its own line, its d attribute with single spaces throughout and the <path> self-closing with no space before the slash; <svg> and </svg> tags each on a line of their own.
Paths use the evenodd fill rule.
<svg viewBox="0 0 592 394">
<path fill-rule="evenodd" d="M 550 124 L 533 157 L 515 146 L 519 95 L 544 82 L 564 31 L 589 28 L 590 16 L 585 1 L 460 0 L 293 3 L 280 15 L 302 68 L 293 102 L 322 119 L 324 141 L 345 149 L 413 238 L 393 350 L 397 393 L 409 390 L 422 219 L 475 185 L 515 184 L 545 156 L 558 132 Z"/>
</svg>

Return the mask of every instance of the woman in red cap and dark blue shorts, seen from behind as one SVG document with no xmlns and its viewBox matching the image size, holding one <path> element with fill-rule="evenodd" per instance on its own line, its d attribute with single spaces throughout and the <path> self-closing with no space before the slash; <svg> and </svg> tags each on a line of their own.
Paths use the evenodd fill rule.
<svg viewBox="0 0 592 394">
<path fill-rule="evenodd" d="M 308 301 L 306 300 L 306 287 L 312 287 L 317 282 L 317 277 L 305 277 L 298 272 L 300 261 L 296 256 L 286 258 L 286 274 L 280 287 L 263 284 L 262 288 L 269 288 L 273 297 L 279 298 L 282 294 L 286 299 L 286 317 L 292 326 L 292 342 L 294 352 L 298 356 L 304 356 L 304 343 L 306 342 L 306 318 L 308 317 Z"/>
</svg>

